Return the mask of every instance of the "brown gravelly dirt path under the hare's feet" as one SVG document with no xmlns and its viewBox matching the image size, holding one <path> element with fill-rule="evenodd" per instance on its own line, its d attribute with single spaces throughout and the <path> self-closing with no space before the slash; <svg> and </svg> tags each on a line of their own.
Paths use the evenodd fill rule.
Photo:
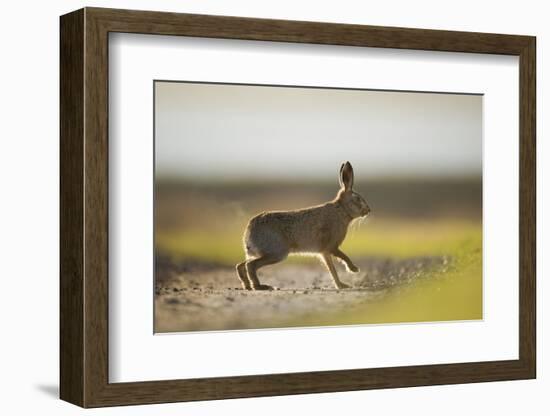
<svg viewBox="0 0 550 416">
<path fill-rule="evenodd" d="M 166 259 L 157 263 L 155 332 L 303 326 L 368 304 L 390 290 L 446 267 L 442 257 L 404 260 L 363 258 L 357 274 L 338 271 L 351 289 L 335 290 L 328 272 L 316 262 L 281 263 L 260 271 L 274 291 L 240 288 L 232 267 Z"/>
</svg>

